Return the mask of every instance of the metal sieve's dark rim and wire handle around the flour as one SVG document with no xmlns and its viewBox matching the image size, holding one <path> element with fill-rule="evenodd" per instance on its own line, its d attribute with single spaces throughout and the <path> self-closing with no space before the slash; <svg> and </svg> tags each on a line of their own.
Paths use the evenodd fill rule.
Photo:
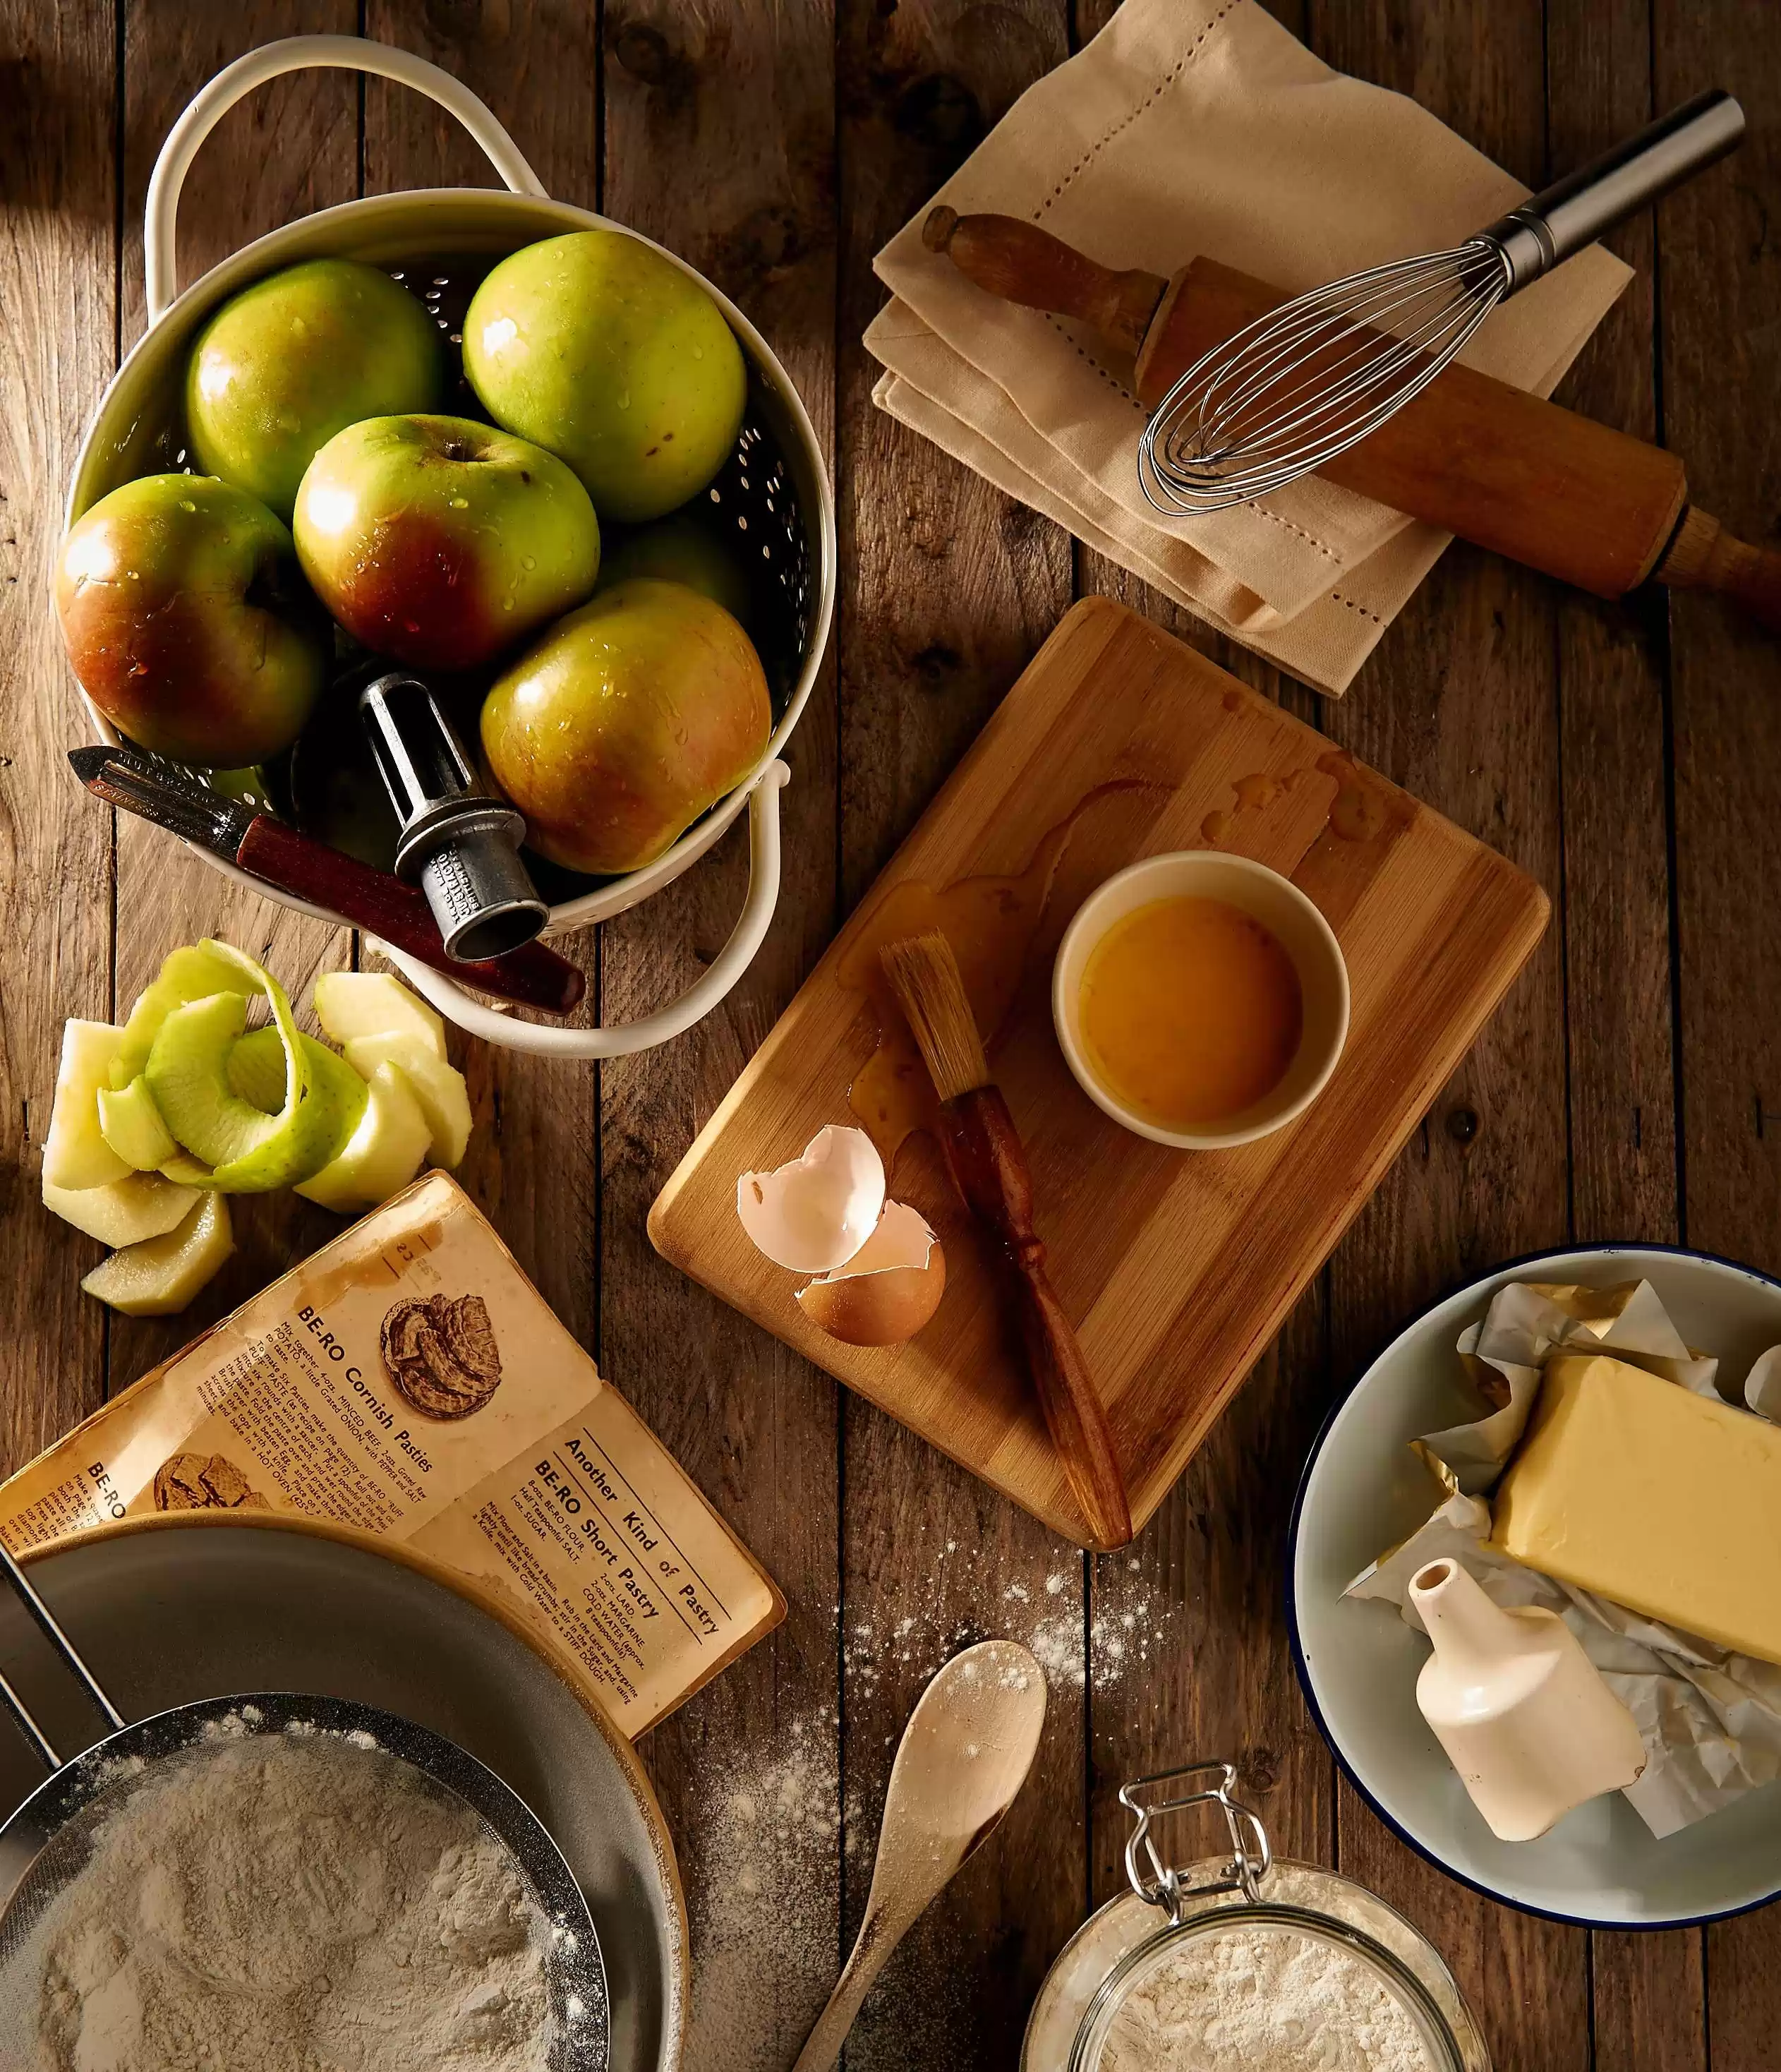
<svg viewBox="0 0 1781 2072">
<path fill-rule="evenodd" d="M 431 1792 L 468 1807 L 501 1842 L 551 1925 L 547 1964 L 555 2041 L 551 2072 L 607 2072 L 611 2006 L 601 1939 L 563 1852 L 532 1809 L 485 1763 L 412 1720 L 338 1697 L 253 1691 L 197 1699 L 126 1722 L 81 1660 L 56 1614 L 0 1544 L 0 1569 L 37 1629 L 112 1728 L 66 1761 L 0 1672 L 0 1703 L 50 1765 L 50 1776 L 0 1825 L 0 2064 L 31 2064 L 41 1981 L 29 1964 L 31 1931 L 87 1865 L 97 1830 L 128 1807 L 145 1780 L 201 1761 L 242 1736 L 298 1732 L 306 1747 L 338 1738 L 377 1749 L 418 1774 Z"/>
</svg>

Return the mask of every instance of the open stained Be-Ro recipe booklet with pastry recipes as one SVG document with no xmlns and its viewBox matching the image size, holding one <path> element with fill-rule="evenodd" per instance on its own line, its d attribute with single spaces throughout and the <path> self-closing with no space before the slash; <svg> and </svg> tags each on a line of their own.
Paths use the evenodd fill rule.
<svg viewBox="0 0 1781 2072">
<path fill-rule="evenodd" d="M 445 1173 L 362 1216 L 0 1484 L 14 1554 L 271 1510 L 493 1593 L 640 1734 L 785 1600 Z"/>
</svg>

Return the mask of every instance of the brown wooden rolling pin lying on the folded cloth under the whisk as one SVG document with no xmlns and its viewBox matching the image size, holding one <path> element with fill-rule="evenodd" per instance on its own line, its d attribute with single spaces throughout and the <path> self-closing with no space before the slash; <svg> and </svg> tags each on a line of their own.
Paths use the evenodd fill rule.
<svg viewBox="0 0 1781 2072">
<path fill-rule="evenodd" d="M 1129 352 L 1151 410 L 1197 358 L 1288 300 L 1216 259 L 1174 280 L 1116 274 L 1017 215 L 936 207 L 922 238 L 1004 303 L 1077 317 Z M 1781 551 L 1696 510 L 1675 454 L 1470 367 L 1446 369 L 1319 474 L 1597 597 L 1646 580 L 1719 591 L 1781 632 Z"/>
</svg>

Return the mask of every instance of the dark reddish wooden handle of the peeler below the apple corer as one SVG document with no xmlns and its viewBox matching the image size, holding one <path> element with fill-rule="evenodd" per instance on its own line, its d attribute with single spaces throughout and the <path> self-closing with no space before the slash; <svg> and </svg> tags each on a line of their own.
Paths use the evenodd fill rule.
<svg viewBox="0 0 1781 2072">
<path fill-rule="evenodd" d="M 543 943 L 524 943 L 505 957 L 485 957 L 476 963 L 447 957 L 425 893 L 404 885 L 389 870 L 373 870 L 356 856 L 300 835 L 271 814 L 259 814 L 249 827 L 236 850 L 236 862 L 267 885 L 344 914 L 354 926 L 369 928 L 393 949 L 406 949 L 435 972 L 478 992 L 491 992 L 497 1001 L 538 1007 L 547 1015 L 567 1015 L 588 990 L 586 974 Z"/>
</svg>

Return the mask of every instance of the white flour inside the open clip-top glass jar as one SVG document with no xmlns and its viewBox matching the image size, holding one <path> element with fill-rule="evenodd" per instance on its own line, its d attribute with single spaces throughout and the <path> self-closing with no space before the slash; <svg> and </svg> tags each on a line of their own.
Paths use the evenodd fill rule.
<svg viewBox="0 0 1781 2072">
<path fill-rule="evenodd" d="M 1359 1958 L 1234 1929 L 1183 1944 L 1127 1997 L 1100 2072 L 1433 2072 L 1408 2012 Z"/>
</svg>

